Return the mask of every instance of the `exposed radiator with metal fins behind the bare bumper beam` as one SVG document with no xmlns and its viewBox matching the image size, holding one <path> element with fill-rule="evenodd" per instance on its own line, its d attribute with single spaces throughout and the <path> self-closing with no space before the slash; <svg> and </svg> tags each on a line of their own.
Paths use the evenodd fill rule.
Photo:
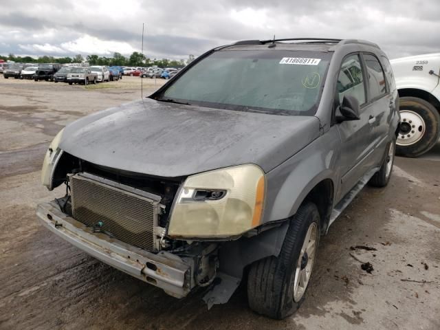
<svg viewBox="0 0 440 330">
<path fill-rule="evenodd" d="M 69 175 L 74 219 L 130 245 L 157 250 L 161 197 L 89 173 Z"/>
</svg>

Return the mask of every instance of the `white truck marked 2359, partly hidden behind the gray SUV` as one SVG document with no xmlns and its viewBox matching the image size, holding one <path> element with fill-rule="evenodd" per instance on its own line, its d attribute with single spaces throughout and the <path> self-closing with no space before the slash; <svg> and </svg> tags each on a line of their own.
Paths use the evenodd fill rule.
<svg viewBox="0 0 440 330">
<path fill-rule="evenodd" d="M 401 115 L 396 153 L 419 157 L 439 142 L 440 53 L 395 58 L 391 66 Z"/>
</svg>

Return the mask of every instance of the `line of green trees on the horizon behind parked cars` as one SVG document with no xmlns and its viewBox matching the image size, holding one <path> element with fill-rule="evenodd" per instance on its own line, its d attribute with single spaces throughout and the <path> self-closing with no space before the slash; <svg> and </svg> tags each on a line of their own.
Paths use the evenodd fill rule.
<svg viewBox="0 0 440 330">
<path fill-rule="evenodd" d="M 194 60 L 194 55 L 189 55 L 186 60 L 181 59 L 179 61 L 170 60 L 168 58 L 148 58 L 144 54 L 139 52 L 133 52 L 129 57 L 126 57 L 118 52 L 113 54 L 113 57 L 98 56 L 95 54 L 87 55 L 85 58 L 78 54 L 74 57 L 54 57 L 54 56 L 39 56 L 34 58 L 32 56 L 15 56 L 14 54 L 9 54 L 8 56 L 1 56 L 0 59 L 4 61 L 14 61 L 17 63 L 82 63 L 84 61 L 89 62 L 90 65 L 126 65 L 126 66 L 136 66 L 136 67 L 151 67 L 157 65 L 158 67 L 184 67 L 192 60 Z"/>
</svg>

